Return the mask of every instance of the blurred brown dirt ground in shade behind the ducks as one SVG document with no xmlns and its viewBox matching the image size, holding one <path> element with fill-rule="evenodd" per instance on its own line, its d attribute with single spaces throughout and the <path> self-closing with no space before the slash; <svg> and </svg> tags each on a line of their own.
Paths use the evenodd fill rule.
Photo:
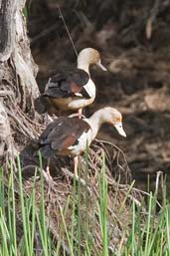
<svg viewBox="0 0 170 256">
<path fill-rule="evenodd" d="M 32 53 L 43 91 L 48 78 L 76 67 L 77 56 L 58 6 L 78 50 L 94 47 L 107 72 L 91 68 L 96 100 L 85 115 L 104 106 L 123 115 L 127 137 L 104 126 L 98 138 L 125 153 L 138 186 L 147 175 L 170 171 L 170 1 L 58 1 L 28 3 Z"/>
</svg>

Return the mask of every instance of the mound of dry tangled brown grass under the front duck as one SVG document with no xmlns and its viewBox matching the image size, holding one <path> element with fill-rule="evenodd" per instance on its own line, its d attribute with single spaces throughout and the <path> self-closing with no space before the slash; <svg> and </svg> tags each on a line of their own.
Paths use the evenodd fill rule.
<svg viewBox="0 0 170 256">
<path fill-rule="evenodd" d="M 55 157 L 52 160 L 53 164 L 51 164 L 50 168 L 53 178 L 49 177 L 46 171 L 43 171 L 45 177 L 44 196 L 47 223 L 56 243 L 62 236 L 61 246 L 65 247 L 65 249 L 69 248 L 69 244 L 64 227 L 61 227 L 61 223 L 63 223 L 61 209 L 64 212 L 69 232 L 72 231 L 72 223 L 74 221 L 74 243 L 79 244 L 79 218 L 81 218 L 81 226 L 84 229 L 87 217 L 88 237 L 92 237 L 97 251 L 100 253 L 102 251 L 98 206 L 101 197 L 100 179 L 102 175 L 103 152 L 105 153 L 104 171 L 108 187 L 106 212 L 110 239 L 109 252 L 113 252 L 119 247 L 121 239 L 125 243 L 125 237 L 130 231 L 129 215 L 131 203 L 134 200 L 137 204 L 140 204 L 140 193 L 128 185 L 128 182 L 131 181 L 131 175 L 123 151 L 110 142 L 95 140 L 89 148 L 87 166 L 86 156 L 80 157 L 80 179 L 76 178 L 73 174 L 73 165 L 71 164 L 69 167 L 68 161 L 65 162 L 65 158 L 61 159 L 61 157 Z M 61 166 L 61 161 L 63 166 Z M 29 170 L 29 166 L 33 169 L 31 165 L 26 166 L 23 175 Z M 55 171 L 52 169 L 54 166 Z M 32 192 L 33 182 L 34 178 L 29 177 L 23 183 L 27 196 Z M 38 208 L 40 207 L 39 203 L 42 196 L 41 185 L 41 178 L 39 176 L 36 181 L 36 203 Z M 75 207 L 74 219 L 73 207 Z M 81 250 L 85 251 L 86 236 L 83 233 L 81 236 Z"/>
</svg>

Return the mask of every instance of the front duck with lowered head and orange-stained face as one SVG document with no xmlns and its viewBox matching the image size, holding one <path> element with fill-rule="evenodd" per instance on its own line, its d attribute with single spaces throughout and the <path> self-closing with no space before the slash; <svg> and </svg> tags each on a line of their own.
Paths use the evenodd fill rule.
<svg viewBox="0 0 170 256">
<path fill-rule="evenodd" d="M 90 145 L 98 129 L 105 123 L 116 128 L 120 135 L 126 136 L 121 113 L 112 107 L 105 107 L 88 119 L 72 116 L 55 119 L 40 135 L 39 150 L 48 159 L 55 154 L 74 156 L 74 171 L 78 176 L 78 156 L 85 152 L 86 144 Z"/>
</svg>

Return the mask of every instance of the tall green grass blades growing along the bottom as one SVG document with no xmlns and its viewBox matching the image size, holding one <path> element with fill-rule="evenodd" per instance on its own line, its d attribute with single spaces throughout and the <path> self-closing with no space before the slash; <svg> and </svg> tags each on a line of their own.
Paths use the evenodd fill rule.
<svg viewBox="0 0 170 256">
<path fill-rule="evenodd" d="M 40 168 L 42 161 L 40 157 Z M 36 250 L 45 256 L 169 256 L 170 255 L 170 203 L 163 199 L 159 213 L 157 191 L 147 196 L 147 203 L 140 205 L 129 200 L 132 186 L 118 198 L 118 188 L 114 198 L 109 198 L 109 184 L 105 173 L 105 159 L 102 156 L 101 169 L 97 177 L 98 196 L 91 204 L 91 195 L 87 184 L 88 162 L 85 155 L 85 186 L 81 180 L 73 181 L 72 193 L 66 203 L 59 203 L 61 223 L 58 239 L 54 239 L 46 217 L 44 177 L 41 174 L 41 199 L 36 201 L 37 170 L 32 191 L 24 192 L 21 164 L 18 158 L 18 184 L 14 181 L 11 163 L 8 183 L 4 180 L 4 171 L 0 171 L 0 255 L 36 255 Z M 81 168 L 80 168 L 81 172 Z M 17 189 L 16 189 L 17 187 Z M 112 200 L 112 201 L 111 201 Z M 117 209 L 117 202 L 119 208 Z M 129 204 L 128 214 L 125 205 Z M 108 210 L 109 205 L 109 210 Z M 68 215 L 70 222 L 68 222 Z M 124 216 L 124 222 L 123 217 Z M 97 221 L 97 223 L 96 223 Z M 114 246 L 112 234 L 118 222 L 123 222 L 121 235 Z M 19 234 L 19 226 L 21 234 Z M 100 237 L 100 246 L 96 240 Z M 37 239 L 38 237 L 38 239 Z M 39 245 L 38 245 L 39 243 Z"/>
</svg>

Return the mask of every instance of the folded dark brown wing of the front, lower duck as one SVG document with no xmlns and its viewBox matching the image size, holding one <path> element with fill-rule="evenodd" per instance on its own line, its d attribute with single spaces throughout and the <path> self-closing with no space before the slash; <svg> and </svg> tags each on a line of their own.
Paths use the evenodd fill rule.
<svg viewBox="0 0 170 256">
<path fill-rule="evenodd" d="M 69 154 L 70 146 L 78 143 L 79 137 L 89 129 L 89 125 L 79 118 L 61 117 L 52 122 L 39 138 L 40 150 L 44 157 Z"/>
</svg>

